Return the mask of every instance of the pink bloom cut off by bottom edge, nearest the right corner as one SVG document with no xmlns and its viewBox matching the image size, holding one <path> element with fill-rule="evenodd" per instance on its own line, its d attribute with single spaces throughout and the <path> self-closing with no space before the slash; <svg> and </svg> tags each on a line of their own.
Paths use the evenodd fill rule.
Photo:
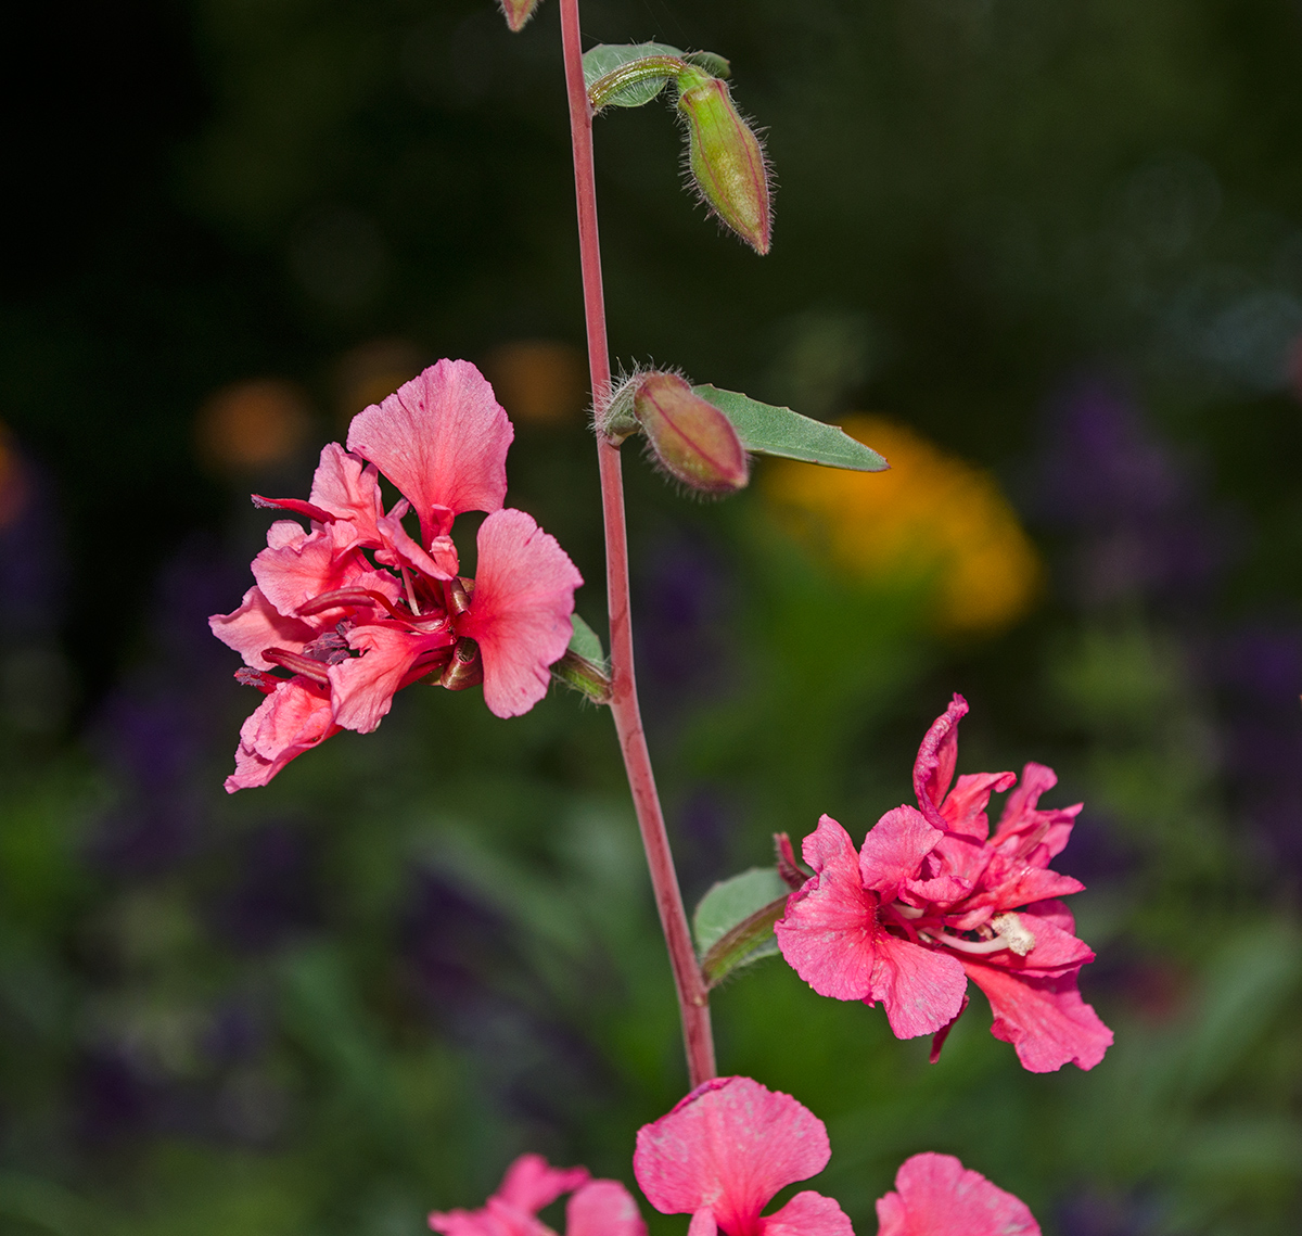
<svg viewBox="0 0 1302 1236">
<path fill-rule="evenodd" d="M 878 1200 L 878 1236 L 1040 1236 L 1026 1203 L 952 1154 L 915 1154 Z"/>
</svg>

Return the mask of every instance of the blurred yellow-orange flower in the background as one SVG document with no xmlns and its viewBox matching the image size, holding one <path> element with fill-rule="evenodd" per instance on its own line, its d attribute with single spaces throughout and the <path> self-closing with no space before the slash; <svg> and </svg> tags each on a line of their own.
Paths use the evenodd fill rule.
<svg viewBox="0 0 1302 1236">
<path fill-rule="evenodd" d="M 993 633 L 1026 613 L 1040 561 L 995 478 L 880 417 L 846 417 L 842 428 L 891 471 L 775 460 L 762 483 L 780 524 L 855 580 L 934 580 L 943 629 Z"/>
</svg>

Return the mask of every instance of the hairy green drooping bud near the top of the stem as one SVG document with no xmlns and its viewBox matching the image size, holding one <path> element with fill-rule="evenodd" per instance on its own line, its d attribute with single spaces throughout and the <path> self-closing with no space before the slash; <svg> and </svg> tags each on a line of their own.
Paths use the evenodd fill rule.
<svg viewBox="0 0 1302 1236">
<path fill-rule="evenodd" d="M 678 111 L 687 122 L 691 176 L 706 204 L 755 253 L 768 253 L 768 163 L 728 83 L 699 69 L 681 73 Z"/>
</svg>

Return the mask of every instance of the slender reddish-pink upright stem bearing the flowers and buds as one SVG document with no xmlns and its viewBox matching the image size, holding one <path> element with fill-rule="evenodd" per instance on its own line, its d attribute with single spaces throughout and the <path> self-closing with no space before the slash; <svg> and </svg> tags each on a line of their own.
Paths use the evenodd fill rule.
<svg viewBox="0 0 1302 1236">
<path fill-rule="evenodd" d="M 574 143 L 574 193 L 578 199 L 578 238 L 583 263 L 583 316 L 587 322 L 587 359 L 592 396 L 611 388 L 611 354 L 605 340 L 605 302 L 602 294 L 602 251 L 596 234 L 596 181 L 592 172 L 592 109 L 583 86 L 583 47 L 579 39 L 578 0 L 561 0 L 561 38 L 565 47 L 565 87 L 569 95 L 570 137 Z M 624 483 L 618 448 L 600 434 L 596 443 L 602 469 L 602 516 L 605 522 L 605 590 L 611 611 L 611 712 L 624 753 L 624 768 L 633 792 L 660 926 L 678 991 L 682 1039 L 691 1085 L 715 1076 L 715 1042 L 710 1032 L 710 995 L 691 947 L 687 916 L 682 909 L 678 875 L 669 852 L 669 835 L 651 771 L 638 688 L 633 673 L 633 623 L 629 607 L 629 542 L 624 526 Z"/>
</svg>

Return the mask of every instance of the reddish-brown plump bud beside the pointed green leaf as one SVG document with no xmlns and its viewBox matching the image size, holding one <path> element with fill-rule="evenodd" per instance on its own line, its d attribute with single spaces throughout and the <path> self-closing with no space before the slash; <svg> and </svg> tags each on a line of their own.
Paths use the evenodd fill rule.
<svg viewBox="0 0 1302 1236">
<path fill-rule="evenodd" d="M 665 471 L 704 494 L 732 494 L 749 477 L 746 451 L 713 404 L 677 374 L 651 372 L 637 384 L 633 414 Z"/>
</svg>

